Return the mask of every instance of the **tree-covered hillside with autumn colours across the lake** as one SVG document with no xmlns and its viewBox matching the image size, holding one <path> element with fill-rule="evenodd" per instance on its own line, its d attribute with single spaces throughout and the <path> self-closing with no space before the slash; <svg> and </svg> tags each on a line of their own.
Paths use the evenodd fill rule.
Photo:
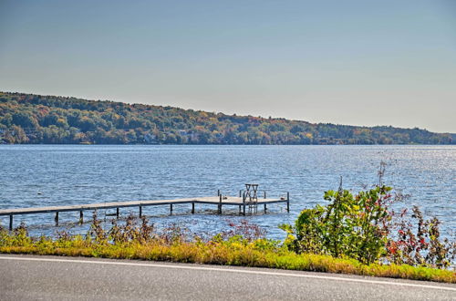
<svg viewBox="0 0 456 301">
<path fill-rule="evenodd" d="M 357 120 L 353 120 L 357 123 Z M 454 144 L 454 134 L 0 92 L 0 143 Z"/>
</svg>

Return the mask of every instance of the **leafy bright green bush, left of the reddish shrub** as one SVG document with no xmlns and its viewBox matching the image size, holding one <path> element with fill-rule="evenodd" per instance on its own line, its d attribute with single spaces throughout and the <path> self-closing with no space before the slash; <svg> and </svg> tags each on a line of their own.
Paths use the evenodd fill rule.
<svg viewBox="0 0 456 301">
<path fill-rule="evenodd" d="M 299 214 L 295 227 L 282 225 L 285 244 L 297 253 L 347 256 L 371 264 L 385 254 L 391 216 L 391 188 L 377 186 L 353 195 L 341 188 L 325 192 L 330 203 Z"/>
</svg>

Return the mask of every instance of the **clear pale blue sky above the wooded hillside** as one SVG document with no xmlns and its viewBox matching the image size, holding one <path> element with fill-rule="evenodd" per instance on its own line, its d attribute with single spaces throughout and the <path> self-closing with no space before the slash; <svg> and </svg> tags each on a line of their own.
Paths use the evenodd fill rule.
<svg viewBox="0 0 456 301">
<path fill-rule="evenodd" d="M 456 132 L 456 1 L 0 0 L 0 90 Z"/>
</svg>

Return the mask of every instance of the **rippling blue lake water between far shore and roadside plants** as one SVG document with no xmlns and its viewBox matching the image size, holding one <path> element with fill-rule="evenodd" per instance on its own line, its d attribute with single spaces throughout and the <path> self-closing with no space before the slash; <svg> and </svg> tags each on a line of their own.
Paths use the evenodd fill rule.
<svg viewBox="0 0 456 301">
<path fill-rule="evenodd" d="M 272 238 L 283 238 L 279 223 L 293 223 L 298 213 L 325 203 L 323 192 L 344 188 L 358 191 L 378 182 L 380 161 L 388 163 L 385 182 L 411 196 L 399 207 L 419 205 L 427 216 L 437 216 L 442 233 L 456 229 L 456 146 L 84 146 L 0 145 L 0 208 L 71 205 L 91 202 L 171 199 L 236 195 L 245 182 L 257 182 L 268 195 L 290 192 L 291 212 L 284 204 L 268 213 L 247 216 Z M 146 207 L 153 223 L 183 223 L 192 231 L 216 233 L 227 220 L 244 218 L 237 208 L 223 215 L 213 206 L 190 204 Z M 224 210 L 224 208 L 223 208 Z M 107 212 L 112 213 L 112 212 Z M 123 216 L 137 208 L 121 209 Z M 89 216 L 86 213 L 86 216 Z M 105 212 L 98 213 L 102 219 Z M 78 213 L 60 213 L 58 229 L 51 213 L 16 216 L 33 234 L 53 234 L 74 226 Z M 6 226 L 7 218 L 0 217 Z"/>
</svg>

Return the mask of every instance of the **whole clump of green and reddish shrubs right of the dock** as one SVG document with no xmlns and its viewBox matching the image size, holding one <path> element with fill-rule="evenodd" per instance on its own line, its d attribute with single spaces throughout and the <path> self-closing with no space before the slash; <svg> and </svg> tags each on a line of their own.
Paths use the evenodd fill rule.
<svg viewBox="0 0 456 301">
<path fill-rule="evenodd" d="M 294 226 L 281 225 L 288 233 L 285 246 L 298 254 L 354 258 L 366 265 L 451 265 L 456 243 L 440 238 L 439 219 L 424 220 L 418 207 L 412 209 L 412 220 L 407 210 L 398 216 L 390 210 L 397 200 L 391 190 L 381 177 L 374 188 L 356 195 L 343 190 L 341 182 L 337 192 L 325 192 L 329 204 L 303 210 Z"/>
</svg>

